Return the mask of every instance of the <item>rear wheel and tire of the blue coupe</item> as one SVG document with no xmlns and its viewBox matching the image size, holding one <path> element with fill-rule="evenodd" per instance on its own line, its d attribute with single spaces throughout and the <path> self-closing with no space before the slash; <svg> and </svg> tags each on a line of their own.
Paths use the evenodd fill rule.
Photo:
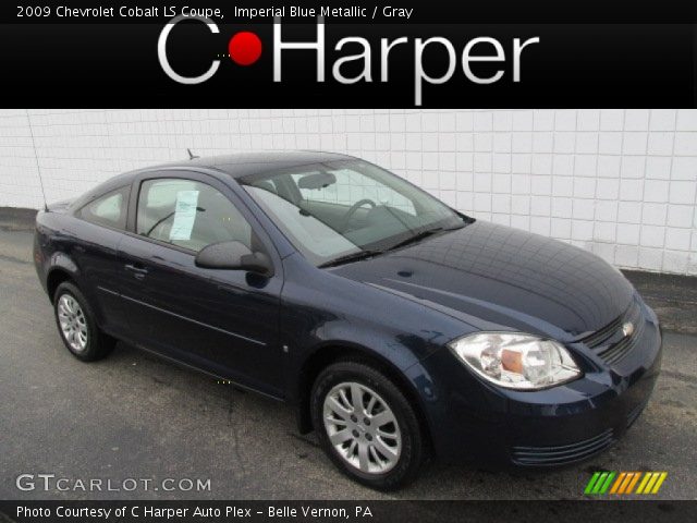
<svg viewBox="0 0 697 523">
<path fill-rule="evenodd" d="M 65 348 L 83 362 L 105 357 L 115 345 L 115 340 L 99 330 L 95 315 L 80 289 L 64 281 L 53 294 L 56 325 Z"/>
</svg>

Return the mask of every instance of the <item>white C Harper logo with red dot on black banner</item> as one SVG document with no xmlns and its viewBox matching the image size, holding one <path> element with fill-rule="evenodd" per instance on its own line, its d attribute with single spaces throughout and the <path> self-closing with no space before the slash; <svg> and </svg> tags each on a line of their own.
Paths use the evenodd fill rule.
<svg viewBox="0 0 697 523">
<path fill-rule="evenodd" d="M 184 76 L 174 71 L 168 58 L 167 42 L 170 34 L 176 24 L 185 20 L 198 21 L 206 24 L 211 34 L 220 34 L 218 24 L 211 19 L 176 16 L 169 21 L 160 33 L 157 48 L 158 59 L 164 73 L 173 81 L 186 85 L 201 84 L 217 73 L 220 60 L 212 60 L 208 70 L 198 76 Z M 329 69 L 331 71 L 330 78 L 344 85 L 372 82 L 389 83 L 390 57 L 394 53 L 408 52 L 411 59 L 407 63 L 413 66 L 414 105 L 421 106 L 426 84 L 441 85 L 456 80 L 456 76 L 479 85 L 496 84 L 506 76 L 510 76 L 513 83 L 519 83 L 523 51 L 528 46 L 540 41 L 537 36 L 526 39 L 512 38 L 505 44 L 490 36 L 478 36 L 455 44 L 443 36 L 429 38 L 399 36 L 378 38 L 377 41 L 375 38 L 370 41 L 360 36 L 344 36 L 332 42 L 333 45 L 329 45 L 326 32 L 323 17 L 318 16 L 314 39 L 307 41 L 283 40 L 281 19 L 273 19 L 273 36 L 270 46 L 268 46 L 271 48 L 273 57 L 273 82 L 282 82 L 283 58 L 288 56 L 289 51 L 304 53 L 303 59 L 308 59 L 310 56 L 314 58 L 316 74 L 314 78 L 308 78 L 308 81 L 314 80 L 320 84 L 327 82 L 326 71 Z M 265 47 L 267 46 L 261 42 L 259 36 L 249 31 L 236 33 L 228 42 L 230 59 L 242 66 L 256 63 Z M 358 52 L 344 53 L 345 48 L 357 49 Z M 429 59 L 437 63 L 436 66 L 427 66 L 424 58 L 427 51 Z M 404 59 L 404 54 L 401 59 Z M 443 65 L 445 66 L 443 68 Z M 458 71 L 462 75 L 456 75 Z"/>
</svg>

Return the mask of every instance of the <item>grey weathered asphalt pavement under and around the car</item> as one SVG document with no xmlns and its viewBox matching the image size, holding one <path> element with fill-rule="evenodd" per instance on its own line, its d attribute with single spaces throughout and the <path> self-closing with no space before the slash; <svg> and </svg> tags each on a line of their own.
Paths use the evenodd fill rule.
<svg viewBox="0 0 697 523">
<path fill-rule="evenodd" d="M 14 230 L 13 230 L 14 229 Z M 382 495 L 338 473 L 293 411 L 119 344 L 98 363 L 64 349 L 30 263 L 32 234 L 0 228 L 0 499 L 568 499 L 596 470 L 668 471 L 658 497 L 697 498 L 697 337 L 667 332 L 651 402 L 608 452 L 543 473 L 431 464 Z M 23 473 L 210 478 L 209 491 L 20 491 Z M 38 485 L 38 483 L 37 483 Z"/>
</svg>

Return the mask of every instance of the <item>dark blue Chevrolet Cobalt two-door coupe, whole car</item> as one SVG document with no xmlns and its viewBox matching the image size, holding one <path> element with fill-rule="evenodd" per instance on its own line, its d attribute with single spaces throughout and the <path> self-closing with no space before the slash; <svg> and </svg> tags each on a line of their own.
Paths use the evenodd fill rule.
<svg viewBox="0 0 697 523">
<path fill-rule="evenodd" d="M 429 454 L 594 455 L 660 367 L 656 315 L 610 265 L 343 155 L 119 175 L 38 214 L 35 263 L 80 360 L 120 339 L 288 401 L 375 488 Z"/>
</svg>

